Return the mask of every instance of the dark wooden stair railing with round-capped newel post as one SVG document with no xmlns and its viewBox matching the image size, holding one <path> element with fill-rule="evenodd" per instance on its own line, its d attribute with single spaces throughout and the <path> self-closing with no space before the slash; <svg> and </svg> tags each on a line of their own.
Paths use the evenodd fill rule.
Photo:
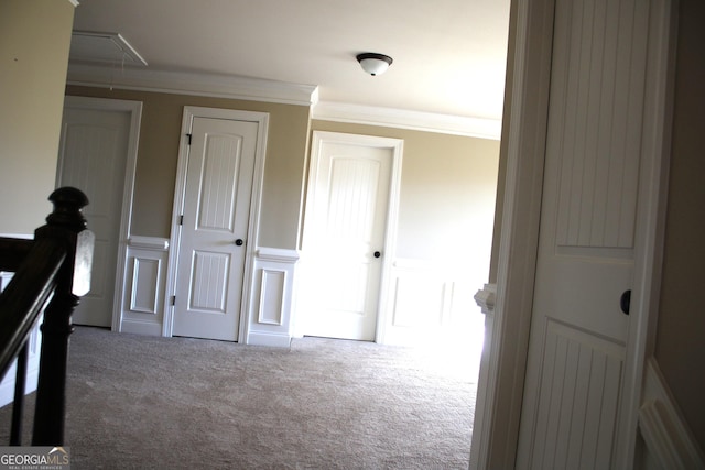
<svg viewBox="0 0 705 470">
<path fill-rule="evenodd" d="M 54 204 L 54 211 L 46 218 L 46 225 L 36 229 L 34 241 L 0 238 L 0 269 L 14 272 L 0 294 L 2 375 L 18 354 L 22 362 L 26 338 L 51 298 L 43 310 L 34 446 L 61 446 L 64 441 L 66 362 L 68 337 L 73 331 L 70 316 L 79 296 L 90 286 L 95 241 L 93 232 L 86 230 L 82 214 L 88 204 L 86 195 L 65 187 L 52 193 L 48 199 Z M 18 383 L 22 381 L 19 390 L 23 390 L 24 378 L 17 380 Z M 13 413 L 17 408 L 15 400 Z M 21 412 L 21 400 L 19 408 Z M 14 427 L 12 431 L 17 434 Z"/>
</svg>

